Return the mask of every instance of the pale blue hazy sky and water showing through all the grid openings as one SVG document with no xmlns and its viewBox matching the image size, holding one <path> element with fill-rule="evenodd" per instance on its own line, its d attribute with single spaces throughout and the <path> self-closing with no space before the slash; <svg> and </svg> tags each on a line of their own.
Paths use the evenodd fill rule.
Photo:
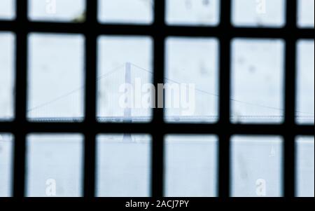
<svg viewBox="0 0 315 211">
<path fill-rule="evenodd" d="M 220 23 L 219 0 L 167 0 L 167 25 L 213 27 Z M 150 25 L 153 0 L 99 0 L 101 23 Z M 235 27 L 286 24 L 285 0 L 233 0 Z M 314 0 L 299 0 L 297 26 L 314 29 Z M 84 22 L 84 0 L 29 0 L 29 20 Z M 0 19 L 15 18 L 15 1 L 0 0 Z M 28 36 L 27 118 L 76 122 L 84 118 L 83 35 L 31 33 Z M 120 107 L 119 86 L 153 81 L 153 40 L 146 36 L 99 36 L 97 120 L 148 122 L 152 109 Z M 314 39 L 297 41 L 296 123 L 314 125 Z M 170 123 L 218 121 L 218 39 L 169 37 L 165 41 L 165 83 L 195 84 L 195 111 L 165 109 Z M 281 39 L 233 39 L 231 43 L 232 123 L 283 123 L 285 43 Z M 130 74 L 127 74 L 130 64 Z M 15 95 L 15 34 L 0 32 L 0 121 L 12 121 Z M 168 98 L 167 98 L 168 99 Z M 97 137 L 97 196 L 149 196 L 150 135 Z M 165 137 L 165 195 L 216 196 L 218 137 Z M 282 196 L 283 137 L 232 137 L 232 196 Z M 14 137 L 0 135 L 0 196 L 11 196 Z M 314 197 L 314 137 L 299 136 L 297 196 Z M 27 136 L 27 196 L 81 196 L 83 136 Z M 54 185 L 55 184 L 55 185 Z M 54 188 L 55 191 L 48 191 Z"/>
</svg>

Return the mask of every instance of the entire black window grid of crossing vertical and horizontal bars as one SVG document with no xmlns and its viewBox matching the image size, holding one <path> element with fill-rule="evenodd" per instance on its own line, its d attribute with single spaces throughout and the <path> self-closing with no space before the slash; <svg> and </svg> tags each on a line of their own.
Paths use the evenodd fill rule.
<svg viewBox="0 0 315 211">
<path fill-rule="evenodd" d="M 165 24 L 165 0 L 155 1 L 152 25 L 115 25 L 97 22 L 97 1 L 86 1 L 83 23 L 31 22 L 27 19 L 27 0 L 16 3 L 16 19 L 0 20 L 0 31 L 16 35 L 15 49 L 15 120 L 0 122 L 0 132 L 15 136 L 13 196 L 25 196 L 26 135 L 30 132 L 79 132 L 85 137 L 83 196 L 94 197 L 96 140 L 99 133 L 148 133 L 153 137 L 151 151 L 151 196 L 163 196 L 164 135 L 214 134 L 219 137 L 218 197 L 230 196 L 230 137 L 231 135 L 281 135 L 283 150 L 283 196 L 295 197 L 295 137 L 314 135 L 314 125 L 295 123 L 296 41 L 314 39 L 314 29 L 297 28 L 297 0 L 286 1 L 286 25 L 282 28 L 233 27 L 231 1 L 221 1 L 220 24 L 216 27 L 169 26 Z M 27 121 L 27 34 L 53 32 L 85 36 L 85 120 L 82 123 L 36 123 Z M 165 39 L 168 36 L 216 37 L 220 41 L 220 100 L 219 121 L 214 124 L 165 123 L 163 109 L 153 110 L 151 123 L 99 123 L 96 120 L 97 36 L 144 35 L 154 41 L 154 84 L 165 79 Z M 285 114 L 280 125 L 230 123 L 230 42 L 236 37 L 283 39 L 285 53 Z M 157 130 L 158 128 L 158 130 Z"/>
</svg>

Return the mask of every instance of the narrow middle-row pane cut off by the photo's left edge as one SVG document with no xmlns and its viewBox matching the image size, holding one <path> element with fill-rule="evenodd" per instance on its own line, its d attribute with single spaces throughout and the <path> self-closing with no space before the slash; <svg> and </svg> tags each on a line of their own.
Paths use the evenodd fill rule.
<svg viewBox="0 0 315 211">
<path fill-rule="evenodd" d="M 8 32 L 0 33 L 0 120 L 14 117 L 14 72 L 15 36 Z"/>
</svg>

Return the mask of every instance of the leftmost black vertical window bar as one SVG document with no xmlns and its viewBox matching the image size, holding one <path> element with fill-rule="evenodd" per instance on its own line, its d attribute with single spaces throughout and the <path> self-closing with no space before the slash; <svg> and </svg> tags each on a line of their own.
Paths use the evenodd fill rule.
<svg viewBox="0 0 315 211">
<path fill-rule="evenodd" d="M 27 107 L 27 1 L 15 3 L 17 18 L 15 43 L 15 144 L 13 196 L 25 196 L 25 123 Z"/>
</svg>

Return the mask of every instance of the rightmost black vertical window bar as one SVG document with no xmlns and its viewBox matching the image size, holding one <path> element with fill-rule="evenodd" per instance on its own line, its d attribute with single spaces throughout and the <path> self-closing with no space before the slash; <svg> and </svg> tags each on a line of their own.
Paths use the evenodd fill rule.
<svg viewBox="0 0 315 211">
<path fill-rule="evenodd" d="M 286 1 L 286 76 L 285 76 L 285 125 L 283 193 L 285 197 L 295 196 L 295 79 L 296 79 L 296 20 L 297 0 Z M 293 34 L 290 34 L 293 33 Z"/>
</svg>

